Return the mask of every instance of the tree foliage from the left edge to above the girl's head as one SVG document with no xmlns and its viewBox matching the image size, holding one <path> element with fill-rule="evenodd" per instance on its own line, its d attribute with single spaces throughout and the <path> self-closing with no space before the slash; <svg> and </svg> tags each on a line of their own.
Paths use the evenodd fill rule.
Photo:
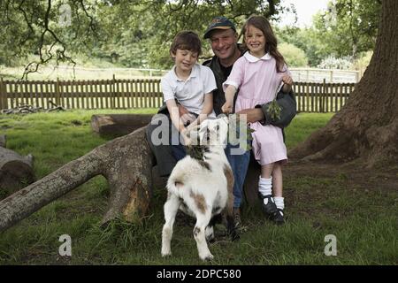
<svg viewBox="0 0 398 283">
<path fill-rule="evenodd" d="M 63 5 L 70 7 L 67 25 L 60 22 Z M 280 0 L 1 0 L 0 11 L 0 64 L 18 64 L 33 54 L 27 74 L 52 60 L 74 64 L 77 53 L 126 66 L 166 67 L 172 64 L 170 42 L 182 29 L 202 35 L 217 15 L 239 25 L 253 13 L 279 19 L 286 8 Z"/>
</svg>

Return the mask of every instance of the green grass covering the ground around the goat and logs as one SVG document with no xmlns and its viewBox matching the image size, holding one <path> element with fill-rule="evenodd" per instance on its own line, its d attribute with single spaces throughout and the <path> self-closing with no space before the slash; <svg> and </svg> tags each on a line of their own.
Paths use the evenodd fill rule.
<svg viewBox="0 0 398 283">
<path fill-rule="evenodd" d="M 34 155 L 34 171 L 42 178 L 107 142 L 89 125 L 92 114 L 105 112 L 137 111 L 1 115 L 0 133 L 7 134 L 8 148 Z M 299 114 L 287 128 L 287 147 L 302 142 L 331 117 Z M 364 191 L 348 181 L 343 173 L 286 178 L 287 224 L 274 226 L 264 220 L 260 207 L 246 209 L 242 218 L 247 231 L 241 241 L 221 237 L 210 244 L 214 261 L 202 263 L 193 226 L 178 219 L 172 256 L 160 256 L 163 188 L 155 189 L 142 224 L 115 221 L 100 227 L 109 190 L 106 180 L 96 177 L 0 233 L 0 264 L 397 264 L 398 193 L 379 187 Z M 62 234 L 72 238 L 72 256 L 58 255 Z M 324 254 L 327 234 L 337 238 L 337 256 Z"/>
</svg>

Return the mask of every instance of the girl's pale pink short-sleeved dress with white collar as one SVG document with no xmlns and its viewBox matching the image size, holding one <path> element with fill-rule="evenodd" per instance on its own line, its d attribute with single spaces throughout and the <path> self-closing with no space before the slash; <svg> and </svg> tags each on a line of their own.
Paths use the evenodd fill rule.
<svg viewBox="0 0 398 283">
<path fill-rule="evenodd" d="M 256 105 L 271 102 L 276 96 L 284 74 L 290 75 L 287 65 L 283 73 L 277 73 L 276 60 L 269 54 L 257 58 L 246 52 L 234 64 L 226 82 L 239 88 L 235 111 L 255 108 Z M 255 130 L 253 136 L 253 153 L 259 164 L 272 164 L 287 161 L 287 149 L 283 142 L 282 130 L 277 126 L 263 126 L 260 122 L 249 124 Z"/>
</svg>

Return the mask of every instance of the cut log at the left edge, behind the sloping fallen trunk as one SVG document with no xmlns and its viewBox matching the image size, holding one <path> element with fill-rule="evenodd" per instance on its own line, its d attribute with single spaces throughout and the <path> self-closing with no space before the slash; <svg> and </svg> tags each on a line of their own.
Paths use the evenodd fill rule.
<svg viewBox="0 0 398 283">
<path fill-rule="evenodd" d="M 5 149 L 5 143 L 5 135 L 0 135 L 0 200 L 34 181 L 32 155 L 22 157 Z"/>
</svg>

